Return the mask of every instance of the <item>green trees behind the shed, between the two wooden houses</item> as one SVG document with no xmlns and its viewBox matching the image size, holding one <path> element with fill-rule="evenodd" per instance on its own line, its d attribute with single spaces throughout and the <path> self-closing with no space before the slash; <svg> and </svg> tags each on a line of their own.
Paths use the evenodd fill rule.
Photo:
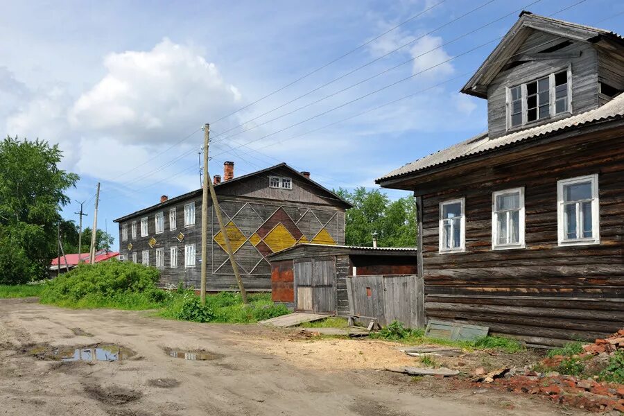
<svg viewBox="0 0 624 416">
<path fill-rule="evenodd" d="M 338 189 L 338 195 L 354 206 L 347 210 L 345 243 L 372 246 L 372 234 L 377 233 L 380 247 L 416 246 L 416 206 L 413 198 L 390 202 L 379 189 L 364 187 L 353 192 Z"/>
</svg>

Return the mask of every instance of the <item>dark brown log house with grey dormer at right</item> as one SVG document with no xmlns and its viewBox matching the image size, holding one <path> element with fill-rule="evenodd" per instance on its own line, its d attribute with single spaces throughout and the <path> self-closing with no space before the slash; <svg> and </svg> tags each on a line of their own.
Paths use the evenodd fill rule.
<svg viewBox="0 0 624 416">
<path fill-rule="evenodd" d="M 376 181 L 414 191 L 427 318 L 546 345 L 624 327 L 623 90 L 622 37 L 523 12 L 462 89 L 487 133 Z"/>
</svg>

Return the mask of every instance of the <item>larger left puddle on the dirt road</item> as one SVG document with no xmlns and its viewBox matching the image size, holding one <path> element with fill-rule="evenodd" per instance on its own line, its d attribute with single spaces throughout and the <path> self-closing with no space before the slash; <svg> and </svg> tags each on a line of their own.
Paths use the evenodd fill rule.
<svg viewBox="0 0 624 416">
<path fill-rule="evenodd" d="M 130 349 L 114 344 L 89 347 L 35 347 L 29 354 L 51 361 L 123 361 L 135 355 Z"/>
</svg>

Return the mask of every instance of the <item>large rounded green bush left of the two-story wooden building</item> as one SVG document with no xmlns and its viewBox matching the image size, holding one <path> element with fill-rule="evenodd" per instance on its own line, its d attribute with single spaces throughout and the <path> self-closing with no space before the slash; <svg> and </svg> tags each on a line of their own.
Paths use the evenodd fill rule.
<svg viewBox="0 0 624 416">
<path fill-rule="evenodd" d="M 41 294 L 41 302 L 70 307 L 103 307 L 116 303 L 157 307 L 169 296 L 158 289 L 159 271 L 126 261 L 83 264 L 53 279 Z M 128 299 L 130 298 L 130 299 Z"/>
</svg>

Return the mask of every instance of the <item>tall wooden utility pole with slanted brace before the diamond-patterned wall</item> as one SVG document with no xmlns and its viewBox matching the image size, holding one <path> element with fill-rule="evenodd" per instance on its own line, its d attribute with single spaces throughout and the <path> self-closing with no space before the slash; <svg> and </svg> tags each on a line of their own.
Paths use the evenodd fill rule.
<svg viewBox="0 0 624 416">
<path fill-rule="evenodd" d="M 203 130 L 204 130 L 204 181 L 203 181 L 203 189 L 202 189 L 201 300 L 202 300 L 202 304 L 205 304 L 206 302 L 206 272 L 207 272 L 206 270 L 207 264 L 206 264 L 205 259 L 207 259 L 207 256 L 208 256 L 208 191 L 210 191 L 210 196 L 212 197 L 212 205 L 214 207 L 214 212 L 219 222 L 219 228 L 221 230 L 221 234 L 223 235 L 223 240 L 225 241 L 225 248 L 227 249 L 227 256 L 229 257 L 229 263 L 232 265 L 232 270 L 234 270 L 234 276 L 236 276 L 236 282 L 239 284 L 239 290 L 241 291 L 243 304 L 246 304 L 247 292 L 245 291 L 245 286 L 243 286 L 243 279 L 241 279 L 241 274 L 239 273 L 239 265 L 236 263 L 236 260 L 234 259 L 232 243 L 229 242 L 229 236 L 227 236 L 227 231 L 225 229 L 225 225 L 223 224 L 223 218 L 221 217 L 221 210 L 219 209 L 219 201 L 216 198 L 216 193 L 214 191 L 214 187 L 212 186 L 212 181 L 210 180 L 210 173 L 208 173 L 208 146 L 210 143 L 210 125 L 206 123 L 204 125 Z"/>
</svg>

